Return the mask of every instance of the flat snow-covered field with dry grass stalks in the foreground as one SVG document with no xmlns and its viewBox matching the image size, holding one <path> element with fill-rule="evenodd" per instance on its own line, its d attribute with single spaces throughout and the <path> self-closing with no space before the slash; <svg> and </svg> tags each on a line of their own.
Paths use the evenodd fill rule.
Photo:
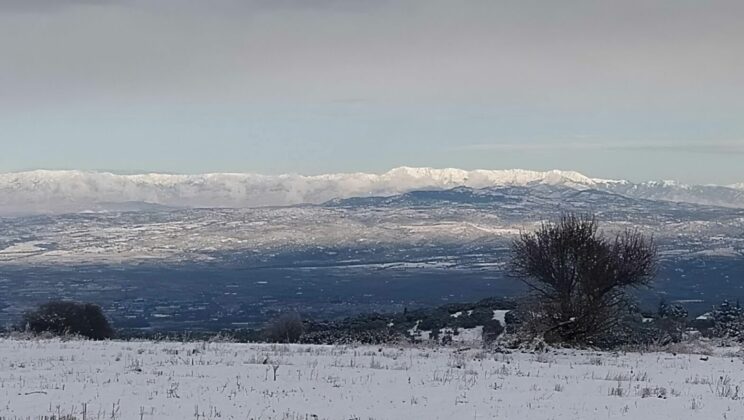
<svg viewBox="0 0 744 420">
<path fill-rule="evenodd" d="M 741 419 L 743 364 L 725 352 L 2 339 L 0 418 Z"/>
</svg>

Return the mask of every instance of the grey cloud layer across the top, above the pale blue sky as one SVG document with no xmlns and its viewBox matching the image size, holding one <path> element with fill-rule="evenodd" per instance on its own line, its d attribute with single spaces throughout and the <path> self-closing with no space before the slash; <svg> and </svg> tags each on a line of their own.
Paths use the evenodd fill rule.
<svg viewBox="0 0 744 420">
<path fill-rule="evenodd" d="M 9 0 L 0 106 L 741 106 L 743 17 L 725 0 Z"/>
</svg>

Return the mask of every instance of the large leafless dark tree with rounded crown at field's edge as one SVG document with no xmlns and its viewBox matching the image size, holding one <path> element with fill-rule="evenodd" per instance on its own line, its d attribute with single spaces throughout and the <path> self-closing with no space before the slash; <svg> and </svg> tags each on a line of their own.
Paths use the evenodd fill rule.
<svg viewBox="0 0 744 420">
<path fill-rule="evenodd" d="M 545 339 L 583 343 L 618 325 L 627 289 L 648 285 L 656 267 L 652 239 L 630 229 L 607 237 L 593 217 L 573 214 L 522 233 L 510 261 L 535 298 L 531 319 Z"/>
</svg>

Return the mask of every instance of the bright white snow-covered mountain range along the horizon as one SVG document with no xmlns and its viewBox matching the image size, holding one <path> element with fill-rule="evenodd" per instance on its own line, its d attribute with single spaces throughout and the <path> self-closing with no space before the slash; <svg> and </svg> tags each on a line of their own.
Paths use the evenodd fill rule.
<svg viewBox="0 0 744 420">
<path fill-rule="evenodd" d="M 303 176 L 30 171 L 0 174 L 0 215 L 54 214 L 165 207 L 246 208 L 323 203 L 335 198 L 417 190 L 538 185 L 599 190 L 631 198 L 744 208 L 744 184 L 684 185 L 590 178 L 574 171 L 462 170 L 400 167 L 382 174 Z"/>
</svg>

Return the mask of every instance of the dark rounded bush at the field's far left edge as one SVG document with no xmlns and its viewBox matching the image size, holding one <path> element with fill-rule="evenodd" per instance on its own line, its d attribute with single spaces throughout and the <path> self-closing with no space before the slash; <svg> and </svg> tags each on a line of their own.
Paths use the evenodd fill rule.
<svg viewBox="0 0 744 420">
<path fill-rule="evenodd" d="M 92 303 L 51 301 L 23 316 L 23 329 L 55 335 L 78 334 L 93 340 L 114 335 L 101 307 Z"/>
</svg>

